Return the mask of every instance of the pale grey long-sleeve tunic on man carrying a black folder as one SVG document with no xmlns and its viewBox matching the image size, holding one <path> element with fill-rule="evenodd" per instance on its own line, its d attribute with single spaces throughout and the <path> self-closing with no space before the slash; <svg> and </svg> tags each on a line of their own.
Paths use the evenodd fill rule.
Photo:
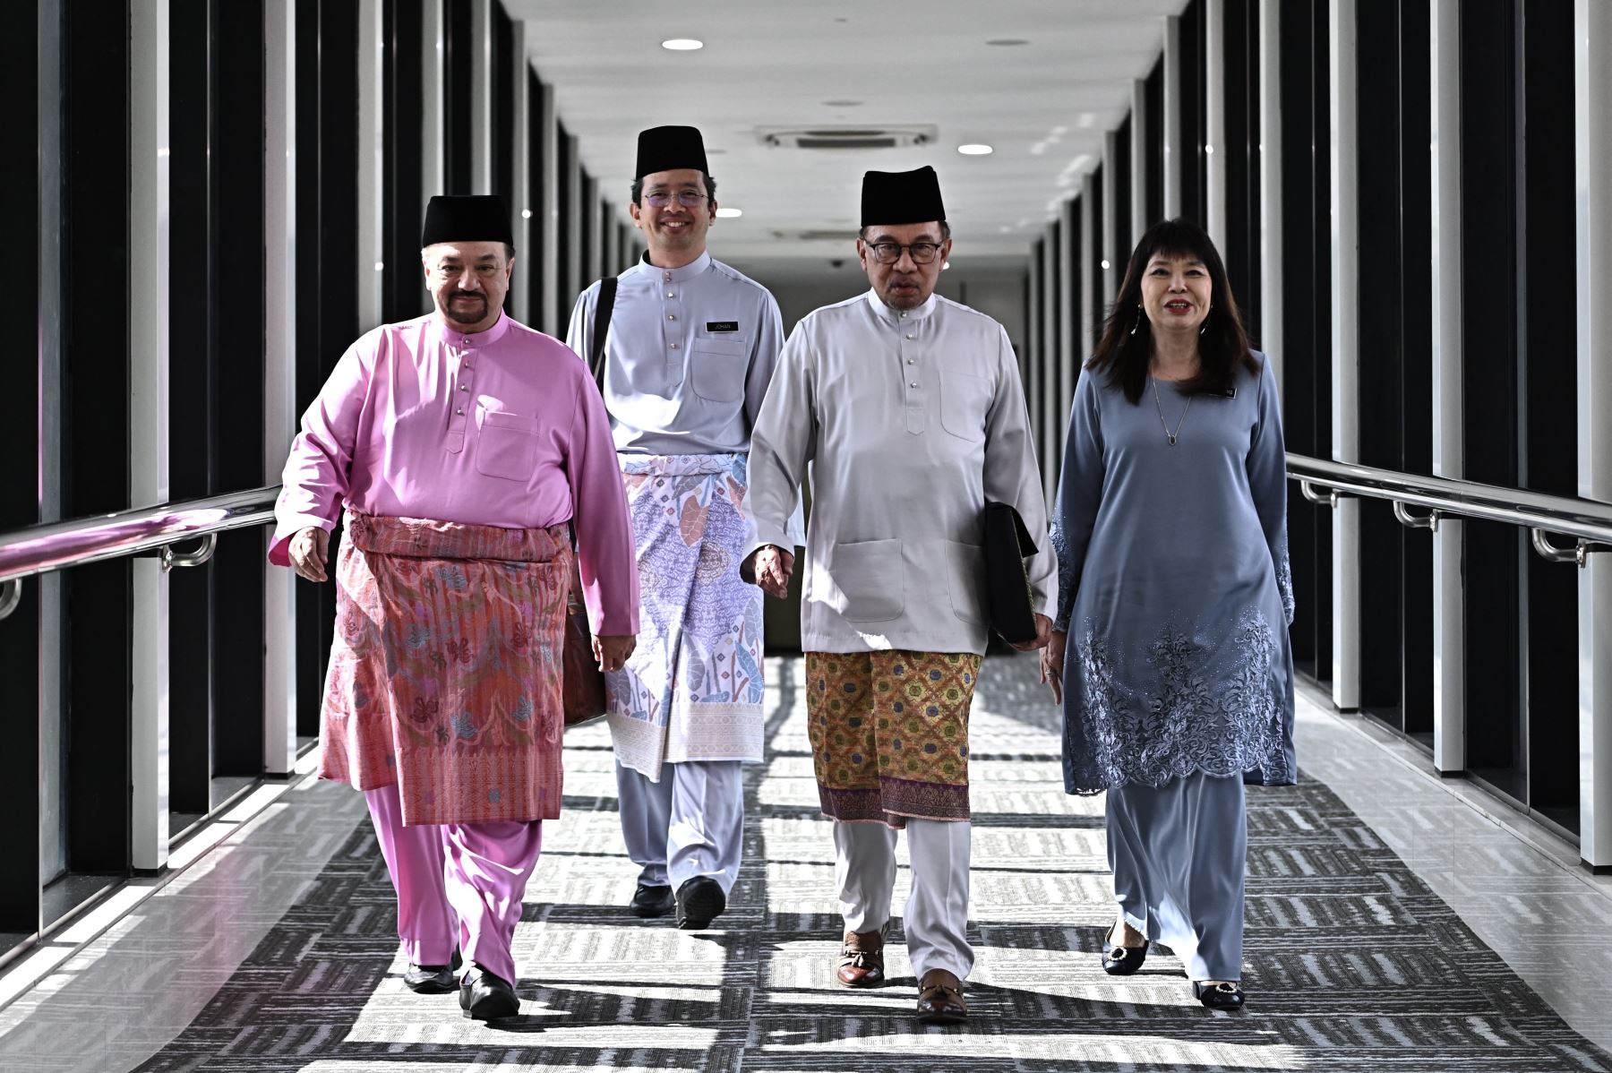
<svg viewBox="0 0 1612 1073">
<path fill-rule="evenodd" d="M 793 545 L 808 466 L 806 651 L 983 654 L 987 499 L 1019 509 L 1033 606 L 1057 606 L 1019 364 L 983 313 L 938 295 L 903 313 L 867 292 L 808 314 L 751 432 L 746 556 Z"/>
</svg>

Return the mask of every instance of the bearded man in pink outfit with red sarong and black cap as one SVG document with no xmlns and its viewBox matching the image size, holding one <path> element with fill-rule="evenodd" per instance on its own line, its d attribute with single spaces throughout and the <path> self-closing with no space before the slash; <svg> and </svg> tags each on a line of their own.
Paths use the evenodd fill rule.
<svg viewBox="0 0 1612 1073">
<path fill-rule="evenodd" d="M 435 311 L 342 356 L 292 443 L 269 559 L 324 582 L 345 508 L 319 773 L 369 802 L 405 983 L 453 991 L 458 947 L 464 1015 L 496 1020 L 519 1012 L 511 939 L 559 815 L 572 554 L 604 670 L 632 654 L 638 572 L 587 367 L 503 313 L 503 200 L 434 197 L 421 246 Z"/>
</svg>

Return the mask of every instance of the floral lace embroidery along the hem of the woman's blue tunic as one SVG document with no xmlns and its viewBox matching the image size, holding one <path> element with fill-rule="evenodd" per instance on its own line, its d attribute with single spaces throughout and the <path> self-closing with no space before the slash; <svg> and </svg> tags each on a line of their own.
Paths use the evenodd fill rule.
<svg viewBox="0 0 1612 1073">
<path fill-rule="evenodd" d="M 1265 615 L 1246 609 L 1235 627 L 1232 673 L 1209 669 L 1204 646 L 1169 625 L 1154 640 L 1148 664 L 1154 691 L 1133 690 L 1114 669 L 1109 641 L 1090 627 L 1075 641 L 1083 706 L 1069 706 L 1064 762 L 1075 793 L 1170 780 L 1204 772 L 1240 775 L 1257 768 L 1265 783 L 1291 781 L 1283 693 L 1272 675 L 1280 652 Z M 1078 710 L 1075 710 L 1078 709 Z M 1085 748 L 1080 748 L 1080 738 Z"/>
</svg>

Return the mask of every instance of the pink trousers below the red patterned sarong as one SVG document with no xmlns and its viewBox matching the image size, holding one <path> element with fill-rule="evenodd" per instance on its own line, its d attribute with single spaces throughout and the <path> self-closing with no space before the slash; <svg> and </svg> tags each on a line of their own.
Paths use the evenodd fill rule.
<svg viewBox="0 0 1612 1073">
<path fill-rule="evenodd" d="M 397 786 L 366 789 L 369 818 L 398 894 L 398 939 L 416 965 L 466 962 L 511 984 L 509 944 L 543 849 L 543 822 L 403 826 Z"/>
</svg>

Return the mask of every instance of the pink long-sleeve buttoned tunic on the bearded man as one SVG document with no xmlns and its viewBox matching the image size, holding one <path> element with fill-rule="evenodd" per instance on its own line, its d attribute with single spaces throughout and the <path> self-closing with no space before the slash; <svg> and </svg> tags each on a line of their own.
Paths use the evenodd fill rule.
<svg viewBox="0 0 1612 1073">
<path fill-rule="evenodd" d="M 353 343 L 285 459 L 269 561 L 368 514 L 542 528 L 575 519 L 593 632 L 638 632 L 638 569 L 604 403 L 559 340 L 501 316 L 466 335 L 435 316 Z"/>
</svg>

